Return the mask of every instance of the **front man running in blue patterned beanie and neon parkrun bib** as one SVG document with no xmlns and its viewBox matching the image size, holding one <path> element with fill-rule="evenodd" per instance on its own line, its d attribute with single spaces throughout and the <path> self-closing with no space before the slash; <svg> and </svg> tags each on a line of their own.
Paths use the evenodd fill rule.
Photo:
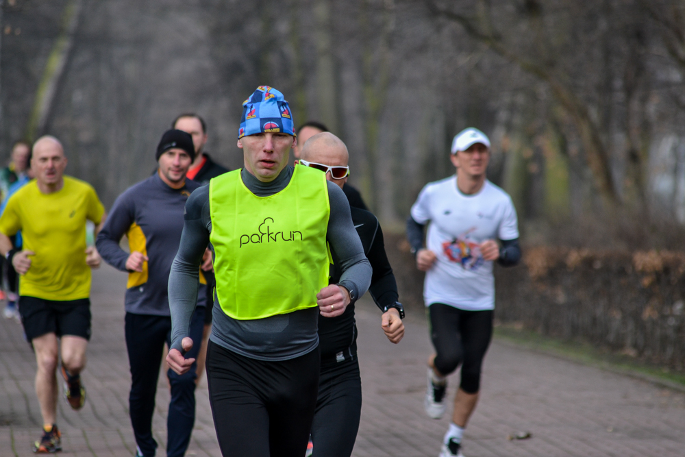
<svg viewBox="0 0 685 457">
<path fill-rule="evenodd" d="M 319 313 L 343 314 L 371 282 L 342 190 L 318 170 L 288 166 L 295 145 L 283 95 L 260 86 L 238 131 L 245 169 L 190 195 L 169 276 L 172 342 L 166 360 L 193 359 L 188 323 L 198 269 L 214 254 L 216 305 L 207 349 L 214 427 L 223 456 L 303 456 L 319 383 Z M 343 274 L 328 285 L 329 252 Z"/>
</svg>

